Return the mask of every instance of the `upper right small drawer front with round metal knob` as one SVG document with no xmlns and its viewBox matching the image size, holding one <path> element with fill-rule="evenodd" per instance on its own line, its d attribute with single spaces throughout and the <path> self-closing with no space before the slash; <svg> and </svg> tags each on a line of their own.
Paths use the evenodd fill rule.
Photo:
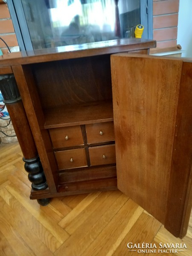
<svg viewBox="0 0 192 256">
<path fill-rule="evenodd" d="M 87 143 L 115 140 L 113 122 L 86 125 Z"/>
</svg>

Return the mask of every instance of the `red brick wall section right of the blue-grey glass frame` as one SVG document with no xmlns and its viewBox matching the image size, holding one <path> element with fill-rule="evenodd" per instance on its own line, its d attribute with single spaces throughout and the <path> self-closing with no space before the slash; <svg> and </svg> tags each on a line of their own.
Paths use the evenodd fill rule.
<svg viewBox="0 0 192 256">
<path fill-rule="evenodd" d="M 179 0 L 153 0 L 153 38 L 157 48 L 177 45 L 178 12 Z"/>
</svg>

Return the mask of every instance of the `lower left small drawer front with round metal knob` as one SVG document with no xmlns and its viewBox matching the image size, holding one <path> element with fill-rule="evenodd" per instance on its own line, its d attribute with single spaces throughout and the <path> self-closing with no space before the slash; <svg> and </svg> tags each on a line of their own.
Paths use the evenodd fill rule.
<svg viewBox="0 0 192 256">
<path fill-rule="evenodd" d="M 84 148 L 57 151 L 55 157 L 59 170 L 87 166 Z"/>
</svg>

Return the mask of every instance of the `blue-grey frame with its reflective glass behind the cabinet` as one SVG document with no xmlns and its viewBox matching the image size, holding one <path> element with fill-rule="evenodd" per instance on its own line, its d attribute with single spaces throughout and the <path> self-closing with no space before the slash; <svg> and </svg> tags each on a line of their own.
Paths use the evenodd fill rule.
<svg viewBox="0 0 192 256">
<path fill-rule="evenodd" d="M 153 38 L 152 0 L 7 0 L 7 4 L 20 50 L 115 39 L 116 6 L 119 8 L 121 38 L 127 37 L 128 30 L 134 29 L 138 23 L 144 26 L 142 38 Z M 65 4 L 63 23 L 58 18 L 61 7 L 56 7 L 59 4 Z M 74 9 L 77 14 L 74 14 Z M 89 16 L 84 17 L 82 12 L 86 15 L 89 13 Z M 72 16 L 74 17 L 68 25 Z M 101 17 L 106 22 L 101 23 Z M 94 22 L 97 22 L 98 28 Z M 101 24 L 98 24 L 99 22 Z M 93 27 L 94 32 L 90 32 Z M 61 29 L 64 32 L 61 32 Z"/>
</svg>

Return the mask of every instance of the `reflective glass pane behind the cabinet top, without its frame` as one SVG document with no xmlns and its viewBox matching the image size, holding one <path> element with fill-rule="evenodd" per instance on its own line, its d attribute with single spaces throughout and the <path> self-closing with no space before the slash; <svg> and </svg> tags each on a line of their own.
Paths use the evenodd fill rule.
<svg viewBox="0 0 192 256">
<path fill-rule="evenodd" d="M 140 0 L 21 0 L 33 49 L 134 36 Z"/>
</svg>

